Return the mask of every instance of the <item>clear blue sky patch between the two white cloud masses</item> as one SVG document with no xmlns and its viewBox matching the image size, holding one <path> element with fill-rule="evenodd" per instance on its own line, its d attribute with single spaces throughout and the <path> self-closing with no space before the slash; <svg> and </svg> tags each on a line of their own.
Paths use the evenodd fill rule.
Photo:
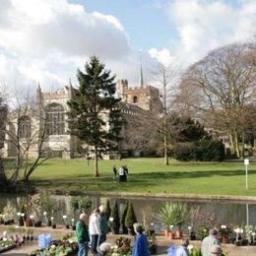
<svg viewBox="0 0 256 256">
<path fill-rule="evenodd" d="M 132 45 L 138 49 L 167 47 L 178 36 L 176 27 L 166 11 L 173 1 L 75 0 L 70 2 L 83 5 L 88 12 L 100 12 L 118 18 L 128 33 Z M 240 0 L 222 2 L 234 9 L 239 9 L 241 6 Z"/>
</svg>

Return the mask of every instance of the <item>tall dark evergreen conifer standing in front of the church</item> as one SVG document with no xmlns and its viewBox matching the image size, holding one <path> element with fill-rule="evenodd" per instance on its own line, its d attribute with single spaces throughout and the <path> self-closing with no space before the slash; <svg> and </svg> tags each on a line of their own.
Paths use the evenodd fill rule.
<svg viewBox="0 0 256 256">
<path fill-rule="evenodd" d="M 74 91 L 70 106 L 71 133 L 93 148 L 95 176 L 99 176 L 97 160 L 101 153 L 117 148 L 122 119 L 115 95 L 115 77 L 91 57 L 85 73 L 78 70 L 79 88 Z"/>
</svg>

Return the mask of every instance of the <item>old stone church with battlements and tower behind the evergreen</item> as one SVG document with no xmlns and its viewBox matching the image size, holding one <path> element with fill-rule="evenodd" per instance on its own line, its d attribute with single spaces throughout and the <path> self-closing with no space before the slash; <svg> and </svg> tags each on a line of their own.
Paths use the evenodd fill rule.
<svg viewBox="0 0 256 256">
<path fill-rule="evenodd" d="M 120 142 L 118 154 L 140 156 L 147 148 L 148 138 L 143 138 L 140 129 L 145 125 L 145 118 L 152 113 L 160 113 L 162 104 L 157 88 L 141 85 L 129 88 L 127 80 L 119 80 L 116 84 L 117 96 L 121 97 L 120 107 L 126 123 L 121 131 L 123 141 Z M 31 143 L 30 157 L 38 153 L 38 136 L 45 130 L 46 138 L 42 144 L 45 156 L 75 158 L 80 156 L 79 140 L 68 133 L 68 100 L 72 98 L 73 88 L 64 87 L 53 93 L 43 93 L 38 86 L 36 91 L 35 110 L 17 111 L 9 114 L 6 129 L 4 157 L 16 157 L 17 149 L 14 138 L 10 134 L 18 134 L 21 145 Z M 46 121 L 45 121 L 46 120 Z M 19 132 L 17 132 L 19 123 Z M 42 127 L 45 125 L 45 127 Z M 44 129 L 45 128 L 45 129 Z M 111 158 L 109 154 L 109 158 Z M 115 154 L 116 157 L 116 154 Z"/>
</svg>

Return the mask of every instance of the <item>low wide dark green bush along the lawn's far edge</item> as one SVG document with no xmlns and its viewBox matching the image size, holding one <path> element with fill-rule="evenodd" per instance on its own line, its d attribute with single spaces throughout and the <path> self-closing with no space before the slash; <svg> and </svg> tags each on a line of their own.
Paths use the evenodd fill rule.
<svg viewBox="0 0 256 256">
<path fill-rule="evenodd" d="M 172 149 L 176 160 L 224 160 L 224 144 L 219 141 L 204 140 L 191 143 L 178 143 Z"/>
</svg>

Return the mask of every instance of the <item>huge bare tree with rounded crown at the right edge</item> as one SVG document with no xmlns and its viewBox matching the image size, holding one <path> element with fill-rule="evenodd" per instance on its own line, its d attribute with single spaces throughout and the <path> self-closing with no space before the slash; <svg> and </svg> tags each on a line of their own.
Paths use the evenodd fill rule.
<svg viewBox="0 0 256 256">
<path fill-rule="evenodd" d="M 246 105 L 256 99 L 256 68 L 246 57 L 250 51 L 248 44 L 216 49 L 192 65 L 180 84 L 180 96 L 187 96 L 183 100 L 202 114 L 206 126 L 229 135 L 237 157 L 239 138 L 244 137 Z M 192 92 L 191 97 L 184 90 Z"/>
</svg>

